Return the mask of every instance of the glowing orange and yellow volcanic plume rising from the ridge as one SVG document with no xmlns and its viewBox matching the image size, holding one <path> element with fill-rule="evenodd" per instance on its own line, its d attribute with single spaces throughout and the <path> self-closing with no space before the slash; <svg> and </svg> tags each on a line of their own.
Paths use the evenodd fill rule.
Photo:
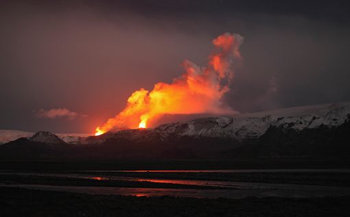
<svg viewBox="0 0 350 217">
<path fill-rule="evenodd" d="M 233 78 L 233 63 L 240 60 L 243 37 L 225 33 L 215 38 L 215 47 L 207 67 L 198 67 L 185 60 L 185 73 L 174 78 L 172 84 L 159 82 L 152 91 L 143 88 L 128 98 L 126 108 L 96 128 L 95 135 L 121 128 L 145 128 L 165 114 L 229 113 L 220 104 L 229 91 Z"/>
</svg>

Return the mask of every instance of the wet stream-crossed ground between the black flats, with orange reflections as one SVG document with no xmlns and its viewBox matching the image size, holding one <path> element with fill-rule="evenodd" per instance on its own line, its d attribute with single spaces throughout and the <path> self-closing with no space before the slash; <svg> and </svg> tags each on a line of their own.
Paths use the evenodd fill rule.
<svg viewBox="0 0 350 217">
<path fill-rule="evenodd" d="M 2 171 L 0 184 L 33 190 L 127 196 L 301 198 L 350 196 L 350 170 Z"/>
</svg>

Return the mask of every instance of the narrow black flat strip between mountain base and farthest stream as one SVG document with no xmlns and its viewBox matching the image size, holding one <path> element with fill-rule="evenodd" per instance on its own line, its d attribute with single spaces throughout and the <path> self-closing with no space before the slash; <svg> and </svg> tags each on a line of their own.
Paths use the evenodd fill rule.
<svg viewBox="0 0 350 217">
<path fill-rule="evenodd" d="M 350 159 L 45 159 L 3 160 L 0 170 L 254 170 L 254 169 L 349 169 Z"/>
</svg>

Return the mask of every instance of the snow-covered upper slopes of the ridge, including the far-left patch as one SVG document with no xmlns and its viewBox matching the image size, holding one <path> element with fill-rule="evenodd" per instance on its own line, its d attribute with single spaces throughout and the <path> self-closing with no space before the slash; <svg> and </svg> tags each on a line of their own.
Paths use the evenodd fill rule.
<svg viewBox="0 0 350 217">
<path fill-rule="evenodd" d="M 350 102 L 299 106 L 287 109 L 244 113 L 233 116 L 205 117 L 188 122 L 163 124 L 156 128 L 130 129 L 108 132 L 98 137 L 88 134 L 56 134 L 67 144 L 102 144 L 110 139 L 128 142 L 176 140 L 181 137 L 221 138 L 242 141 L 259 138 L 270 126 L 304 130 L 327 126 L 340 126 L 350 118 Z M 0 130 L 0 144 L 34 133 Z"/>
</svg>

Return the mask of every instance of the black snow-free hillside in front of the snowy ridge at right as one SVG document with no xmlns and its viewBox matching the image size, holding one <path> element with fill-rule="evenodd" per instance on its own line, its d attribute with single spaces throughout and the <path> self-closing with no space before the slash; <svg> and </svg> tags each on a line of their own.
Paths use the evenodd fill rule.
<svg viewBox="0 0 350 217">
<path fill-rule="evenodd" d="M 231 148 L 223 158 L 320 157 L 345 158 L 350 155 L 350 118 L 340 126 L 317 128 L 283 128 L 270 126 L 254 142 Z"/>
</svg>

